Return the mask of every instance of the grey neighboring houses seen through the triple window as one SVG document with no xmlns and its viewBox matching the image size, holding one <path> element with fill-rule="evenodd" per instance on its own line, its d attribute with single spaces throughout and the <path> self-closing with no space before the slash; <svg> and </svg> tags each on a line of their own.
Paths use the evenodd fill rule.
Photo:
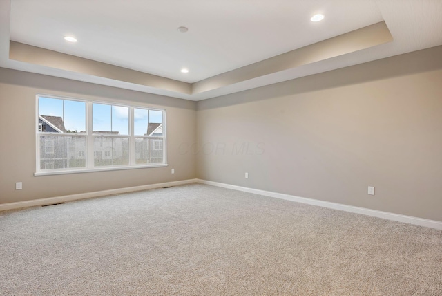
<svg viewBox="0 0 442 296">
<path fill-rule="evenodd" d="M 59 135 L 41 134 L 40 167 L 41 169 L 61 169 L 66 167 L 86 167 L 85 131 L 68 131 L 63 118 L 59 116 L 39 115 L 39 132 L 59 133 Z M 162 136 L 161 123 L 148 124 L 144 136 Z M 118 131 L 95 131 L 94 165 L 128 165 L 129 138 L 120 137 Z M 135 142 L 137 164 L 162 163 L 162 138 L 137 138 Z"/>
</svg>

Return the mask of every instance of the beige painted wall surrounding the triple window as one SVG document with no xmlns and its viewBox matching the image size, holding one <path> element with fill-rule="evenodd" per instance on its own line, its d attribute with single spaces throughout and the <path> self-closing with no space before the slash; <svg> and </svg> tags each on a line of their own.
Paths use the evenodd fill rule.
<svg viewBox="0 0 442 296">
<path fill-rule="evenodd" d="M 36 93 L 165 109 L 169 166 L 34 176 Z M 195 141 L 192 101 L 0 68 L 0 126 L 0 203 L 195 178 L 195 156 L 178 149 Z M 16 190 L 16 182 L 23 182 L 23 189 Z"/>
</svg>

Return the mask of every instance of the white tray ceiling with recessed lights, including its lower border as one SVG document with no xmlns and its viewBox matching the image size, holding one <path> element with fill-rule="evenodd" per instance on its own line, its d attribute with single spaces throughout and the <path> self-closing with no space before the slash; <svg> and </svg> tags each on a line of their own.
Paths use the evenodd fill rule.
<svg viewBox="0 0 442 296">
<path fill-rule="evenodd" d="M 189 100 L 442 44 L 442 0 L 0 1 L 0 66 Z M 311 22 L 316 13 L 325 19 Z M 8 54 L 12 40 L 193 84 L 379 21 L 394 41 L 199 94 L 68 73 L 12 61 Z M 180 26 L 189 32 L 178 32 Z M 68 43 L 66 35 L 78 42 Z"/>
</svg>

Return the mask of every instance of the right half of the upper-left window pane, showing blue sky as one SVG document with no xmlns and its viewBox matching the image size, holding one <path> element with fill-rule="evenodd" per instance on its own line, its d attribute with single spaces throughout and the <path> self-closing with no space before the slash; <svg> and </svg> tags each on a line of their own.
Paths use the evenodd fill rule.
<svg viewBox="0 0 442 296">
<path fill-rule="evenodd" d="M 64 100 L 64 127 L 68 133 L 86 133 L 86 103 Z"/>
</svg>

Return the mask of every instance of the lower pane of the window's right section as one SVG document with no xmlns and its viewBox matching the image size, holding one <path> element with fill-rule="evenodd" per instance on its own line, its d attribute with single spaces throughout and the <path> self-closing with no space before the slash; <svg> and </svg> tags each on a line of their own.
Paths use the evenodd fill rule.
<svg viewBox="0 0 442 296">
<path fill-rule="evenodd" d="M 135 163 L 163 163 L 163 139 L 136 138 Z"/>
</svg>

